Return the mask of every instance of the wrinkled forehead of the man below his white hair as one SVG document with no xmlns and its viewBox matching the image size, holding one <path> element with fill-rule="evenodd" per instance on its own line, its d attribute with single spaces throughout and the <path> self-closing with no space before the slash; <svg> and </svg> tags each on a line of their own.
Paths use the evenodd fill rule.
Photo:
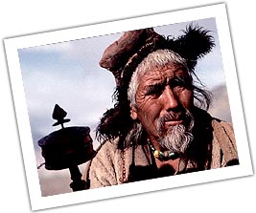
<svg viewBox="0 0 256 213">
<path fill-rule="evenodd" d="M 139 75 L 139 82 L 160 82 L 180 75 L 188 75 L 188 72 L 181 66 L 169 65 L 164 68 L 150 69 L 144 75 Z"/>
</svg>

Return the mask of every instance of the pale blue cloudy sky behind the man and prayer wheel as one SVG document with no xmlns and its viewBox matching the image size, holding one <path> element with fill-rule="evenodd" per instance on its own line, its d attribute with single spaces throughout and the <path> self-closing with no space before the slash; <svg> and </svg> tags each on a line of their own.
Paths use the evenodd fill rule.
<svg viewBox="0 0 256 213">
<path fill-rule="evenodd" d="M 211 31 L 216 43 L 214 50 L 198 61 L 196 72 L 206 89 L 216 91 L 224 88 L 225 76 L 215 19 L 197 20 L 194 23 Z M 152 27 L 160 34 L 177 36 L 187 25 L 178 23 Z M 67 112 L 66 118 L 71 119 L 65 126 L 89 126 L 95 139 L 95 128 L 100 118 L 114 104 L 111 96 L 115 88 L 113 75 L 101 68 L 99 61 L 105 48 L 121 35 L 112 33 L 18 50 L 37 164 L 43 162 L 37 141 L 60 128 L 52 126 L 56 122 L 52 118 L 55 104 Z M 222 116 L 217 108 L 211 112 L 217 117 Z M 53 179 L 53 176 L 58 177 L 59 173 L 49 173 L 42 167 L 38 174 L 42 195 L 63 192 L 56 188 L 46 192 L 47 189 L 43 188 L 45 182 Z"/>
</svg>

